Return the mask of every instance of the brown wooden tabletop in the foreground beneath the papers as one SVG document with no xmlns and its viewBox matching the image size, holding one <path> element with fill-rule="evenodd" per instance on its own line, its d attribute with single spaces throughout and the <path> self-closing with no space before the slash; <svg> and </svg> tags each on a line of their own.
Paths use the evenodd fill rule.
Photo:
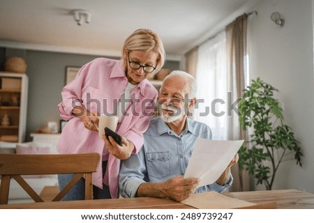
<svg viewBox="0 0 314 223">
<path fill-rule="evenodd" d="M 248 201 L 251 203 L 277 202 L 277 208 L 314 208 L 314 194 L 301 192 L 299 190 L 271 190 L 254 192 L 228 192 L 224 193 L 227 197 Z M 45 209 L 188 209 L 192 208 L 183 203 L 167 199 L 157 199 L 151 197 L 139 197 L 133 199 L 101 199 L 89 201 L 59 201 L 59 202 L 41 202 L 41 203 L 13 203 L 0 205 L 1 208 L 45 208 Z"/>
</svg>

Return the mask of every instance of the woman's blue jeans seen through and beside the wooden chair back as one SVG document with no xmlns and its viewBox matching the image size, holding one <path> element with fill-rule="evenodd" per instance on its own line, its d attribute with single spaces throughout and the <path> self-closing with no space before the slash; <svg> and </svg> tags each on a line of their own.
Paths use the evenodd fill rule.
<svg viewBox="0 0 314 223">
<path fill-rule="evenodd" d="M 103 174 L 107 168 L 107 161 L 103 162 Z M 59 174 L 59 190 L 62 190 L 75 174 Z M 81 178 L 71 190 L 62 198 L 62 201 L 75 201 L 85 199 L 85 179 Z M 93 185 L 93 199 L 111 199 L 109 187 L 103 184 L 103 189 Z"/>
</svg>

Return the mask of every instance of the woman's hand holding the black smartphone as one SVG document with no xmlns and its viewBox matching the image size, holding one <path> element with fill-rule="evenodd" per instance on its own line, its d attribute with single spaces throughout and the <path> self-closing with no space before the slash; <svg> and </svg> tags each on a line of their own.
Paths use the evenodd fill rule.
<svg viewBox="0 0 314 223">
<path fill-rule="evenodd" d="M 112 137 L 107 139 L 105 134 L 103 134 L 103 141 L 105 142 L 107 151 L 120 160 L 128 159 L 134 149 L 134 144 L 131 141 L 126 140 L 124 137 L 122 137 L 122 146 L 119 146 L 119 144 L 117 144 Z"/>
</svg>

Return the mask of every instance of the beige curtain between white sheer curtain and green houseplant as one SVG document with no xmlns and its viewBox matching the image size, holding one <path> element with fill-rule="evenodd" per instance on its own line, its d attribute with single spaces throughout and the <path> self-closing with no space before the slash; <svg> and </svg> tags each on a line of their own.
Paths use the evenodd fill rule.
<svg viewBox="0 0 314 223">
<path fill-rule="evenodd" d="M 237 98 L 241 98 L 245 88 L 246 72 L 246 26 L 248 15 L 244 14 L 237 17 L 234 22 L 225 27 L 227 38 L 227 74 L 230 75 L 227 91 L 232 93 L 231 103 Z M 228 116 L 227 121 L 227 139 L 245 139 L 246 132 L 241 130 L 239 125 L 239 116 L 233 111 Z M 234 183 L 229 191 L 252 190 L 250 176 L 246 171 L 240 171 L 235 165 L 232 167 L 232 176 Z"/>
</svg>

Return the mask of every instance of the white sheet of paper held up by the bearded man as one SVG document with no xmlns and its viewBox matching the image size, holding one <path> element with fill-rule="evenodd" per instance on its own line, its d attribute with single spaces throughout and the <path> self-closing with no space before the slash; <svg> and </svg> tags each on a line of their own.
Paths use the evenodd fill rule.
<svg viewBox="0 0 314 223">
<path fill-rule="evenodd" d="M 216 182 L 243 143 L 197 138 L 184 178 L 200 178 L 199 187 Z"/>
</svg>

